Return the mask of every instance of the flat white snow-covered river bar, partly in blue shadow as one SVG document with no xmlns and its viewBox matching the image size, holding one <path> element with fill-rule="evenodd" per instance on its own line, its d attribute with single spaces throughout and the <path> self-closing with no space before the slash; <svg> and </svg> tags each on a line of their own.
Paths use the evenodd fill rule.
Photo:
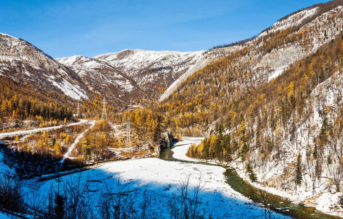
<svg viewBox="0 0 343 219">
<path fill-rule="evenodd" d="M 195 142 L 200 142 L 199 140 L 201 139 Z M 175 158 L 183 159 L 189 143 L 193 141 L 185 139 L 179 142 L 177 145 L 188 144 L 173 149 Z M 146 197 L 144 194 L 147 194 L 150 198 L 147 215 L 157 214 L 158 218 L 169 218 L 167 200 L 177 192 L 176 186 L 190 174 L 191 188 L 197 185 L 199 178 L 202 178 L 201 185 L 204 187 L 199 193 L 202 207 L 211 211 L 213 218 L 259 218 L 262 209 L 252 205 L 251 200 L 234 191 L 225 182 L 224 171 L 224 168 L 218 166 L 171 162 L 158 158 L 130 159 L 109 162 L 92 170 L 60 177 L 60 185 L 70 179 L 79 179 L 80 184 L 85 186 L 83 195 L 91 199 L 90 203 L 94 203 L 95 209 L 99 206 L 99 197 L 106 193 L 119 193 L 119 178 L 125 185 L 125 193 L 133 197 L 135 205 L 142 206 L 141 203 Z M 47 197 L 51 184 L 57 188 L 58 179 L 38 183 L 30 180 L 25 183 L 23 192 L 31 198 L 33 194 L 35 197 L 37 194 L 40 197 Z M 280 218 L 287 217 L 280 215 Z"/>
</svg>

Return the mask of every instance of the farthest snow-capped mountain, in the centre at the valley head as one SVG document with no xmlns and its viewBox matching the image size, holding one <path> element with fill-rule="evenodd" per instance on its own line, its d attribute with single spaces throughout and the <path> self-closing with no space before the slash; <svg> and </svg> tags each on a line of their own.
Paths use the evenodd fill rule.
<svg viewBox="0 0 343 219">
<path fill-rule="evenodd" d="M 204 51 L 123 50 L 93 57 L 134 79 L 147 91 L 165 90 L 203 57 Z"/>
</svg>

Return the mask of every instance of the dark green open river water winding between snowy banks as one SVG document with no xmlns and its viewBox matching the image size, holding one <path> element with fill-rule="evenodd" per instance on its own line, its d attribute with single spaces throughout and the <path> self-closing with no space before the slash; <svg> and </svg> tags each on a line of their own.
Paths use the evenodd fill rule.
<svg viewBox="0 0 343 219">
<path fill-rule="evenodd" d="M 193 164 L 205 164 L 205 165 L 213 165 L 213 166 L 220 166 L 226 169 L 224 175 L 226 176 L 226 182 L 231 186 L 232 189 L 243 194 L 246 197 L 249 197 L 255 203 L 261 203 L 262 199 L 258 193 L 257 188 L 250 185 L 249 182 L 244 181 L 242 178 L 238 176 L 236 170 L 224 165 L 218 164 L 208 164 L 205 162 L 191 162 L 187 160 L 180 160 L 175 159 L 173 157 L 173 149 L 174 147 L 169 147 L 163 149 L 160 154 L 154 155 L 152 157 L 156 157 L 163 160 L 168 161 L 179 161 L 184 163 L 193 163 Z M 304 207 L 302 204 L 294 204 L 287 198 L 283 198 L 278 195 L 273 195 L 274 200 L 276 202 L 276 207 L 281 208 L 281 210 L 277 210 L 279 213 L 291 216 L 297 219 L 342 219 L 341 217 L 331 216 L 324 214 L 313 207 Z"/>
</svg>

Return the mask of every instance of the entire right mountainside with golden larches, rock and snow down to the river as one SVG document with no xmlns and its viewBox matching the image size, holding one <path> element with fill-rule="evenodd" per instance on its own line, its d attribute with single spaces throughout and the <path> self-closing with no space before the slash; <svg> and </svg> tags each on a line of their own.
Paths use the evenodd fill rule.
<svg viewBox="0 0 343 219">
<path fill-rule="evenodd" d="M 157 107 L 174 132 L 207 137 L 188 155 L 229 163 L 251 181 L 340 210 L 340 5 L 314 5 L 257 37 L 215 47 L 238 49 L 190 76 Z"/>
</svg>

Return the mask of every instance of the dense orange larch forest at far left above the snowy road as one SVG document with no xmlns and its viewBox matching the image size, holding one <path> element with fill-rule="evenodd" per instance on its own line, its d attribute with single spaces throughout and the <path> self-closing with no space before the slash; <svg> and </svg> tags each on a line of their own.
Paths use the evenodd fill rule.
<svg viewBox="0 0 343 219">
<path fill-rule="evenodd" d="M 33 119 L 36 116 L 47 121 L 72 119 L 72 104 L 68 96 L 55 92 L 41 94 L 28 84 L 0 77 L 0 121 L 5 118 L 13 121 Z"/>
</svg>

